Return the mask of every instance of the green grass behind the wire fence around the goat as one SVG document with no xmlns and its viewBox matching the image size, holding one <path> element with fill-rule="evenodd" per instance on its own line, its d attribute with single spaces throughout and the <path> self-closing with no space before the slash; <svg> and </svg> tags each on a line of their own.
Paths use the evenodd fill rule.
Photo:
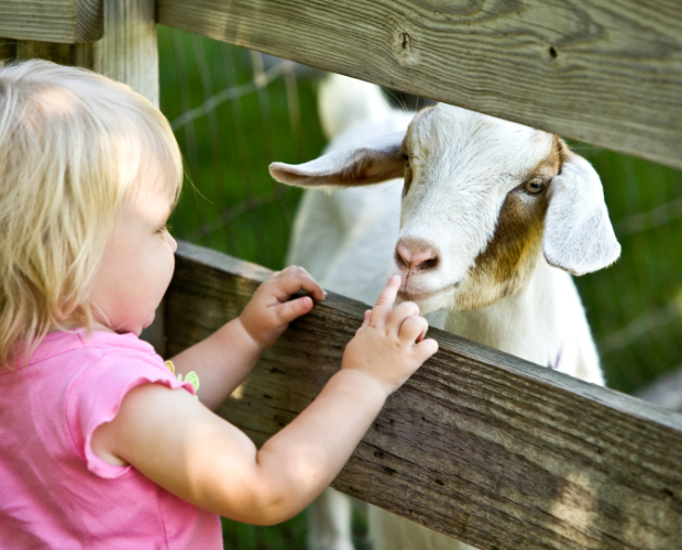
<svg viewBox="0 0 682 550">
<path fill-rule="evenodd" d="M 219 90 L 253 79 L 248 51 L 163 26 L 158 37 L 161 105 L 170 121 Z M 311 160 L 324 145 L 316 78 L 297 78 L 297 91 L 299 123 L 292 124 L 279 77 L 261 92 L 226 101 L 176 132 L 189 180 L 172 220 L 176 237 L 271 268 L 283 266 L 300 191 L 275 184 L 267 165 Z M 631 393 L 682 363 L 679 308 L 672 308 L 668 320 L 661 316 L 661 308 L 675 304 L 682 293 L 682 218 L 634 234 L 618 228 L 628 217 L 682 199 L 682 173 L 590 145 L 572 146 L 600 173 L 623 245 L 615 266 L 579 277 L 576 284 L 602 350 L 608 386 Z M 254 199 L 263 204 L 252 208 Z M 200 228 L 207 223 L 219 229 L 204 234 Z M 624 331 L 630 337 L 622 338 L 622 345 L 613 344 L 618 340 L 614 334 Z M 305 530 L 302 515 L 273 528 L 226 521 L 226 547 L 302 549 Z M 362 547 L 360 518 L 356 532 Z"/>
</svg>

